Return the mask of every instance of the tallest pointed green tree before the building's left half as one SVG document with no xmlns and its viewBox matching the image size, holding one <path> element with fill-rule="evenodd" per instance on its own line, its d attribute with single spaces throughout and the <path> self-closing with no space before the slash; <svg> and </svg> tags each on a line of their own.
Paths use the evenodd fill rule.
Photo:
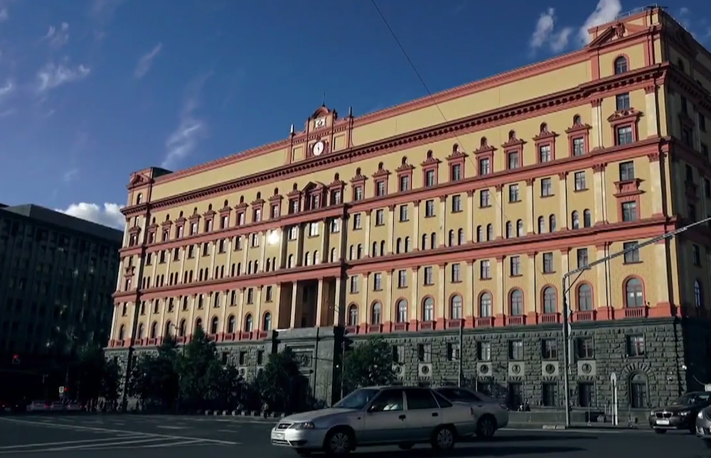
<svg viewBox="0 0 711 458">
<path fill-rule="evenodd" d="M 234 398 L 237 370 L 225 365 L 212 342 L 198 328 L 178 359 L 181 404 L 191 408 L 226 408 Z"/>
</svg>

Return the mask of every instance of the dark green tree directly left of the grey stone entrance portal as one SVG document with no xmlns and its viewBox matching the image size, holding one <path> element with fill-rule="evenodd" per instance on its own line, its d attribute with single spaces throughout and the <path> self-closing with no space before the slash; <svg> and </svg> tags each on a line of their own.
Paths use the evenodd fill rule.
<svg viewBox="0 0 711 458">
<path fill-rule="evenodd" d="M 291 412 L 297 401 L 294 395 L 300 376 L 294 352 L 287 348 L 269 355 L 267 364 L 264 364 L 264 369 L 257 376 L 255 387 L 271 410 Z"/>
</svg>

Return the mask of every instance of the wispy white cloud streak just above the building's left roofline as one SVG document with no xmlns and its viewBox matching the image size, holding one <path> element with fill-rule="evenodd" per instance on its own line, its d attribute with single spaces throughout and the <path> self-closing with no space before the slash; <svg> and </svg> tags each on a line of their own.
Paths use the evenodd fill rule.
<svg viewBox="0 0 711 458">
<path fill-rule="evenodd" d="M 205 135 L 207 125 L 203 119 L 195 116 L 195 111 L 200 104 L 200 92 L 205 80 L 210 75 L 198 78 L 188 87 L 183 108 L 179 116 L 178 127 L 166 140 L 166 156 L 161 163 L 162 168 L 172 170 L 198 146 L 198 142 Z"/>
</svg>

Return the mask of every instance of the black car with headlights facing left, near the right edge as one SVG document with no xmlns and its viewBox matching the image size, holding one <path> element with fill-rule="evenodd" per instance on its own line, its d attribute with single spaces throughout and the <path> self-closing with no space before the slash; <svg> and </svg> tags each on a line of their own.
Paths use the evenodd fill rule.
<svg viewBox="0 0 711 458">
<path fill-rule="evenodd" d="M 711 392 L 693 391 L 686 393 L 671 405 L 654 409 L 649 413 L 649 426 L 657 434 L 668 430 L 696 432 L 696 416 L 711 405 Z"/>
</svg>

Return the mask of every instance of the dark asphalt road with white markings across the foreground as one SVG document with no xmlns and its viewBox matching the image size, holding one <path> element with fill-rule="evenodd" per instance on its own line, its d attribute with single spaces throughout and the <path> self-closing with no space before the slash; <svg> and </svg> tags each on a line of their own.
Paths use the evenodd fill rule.
<svg viewBox="0 0 711 458">
<path fill-rule="evenodd" d="M 0 458 L 192 458 L 247 456 L 295 458 L 269 445 L 272 423 L 247 418 L 179 416 L 0 417 Z M 429 457 L 429 447 L 402 452 L 397 447 L 360 449 L 354 458 Z M 670 432 L 585 430 L 504 430 L 492 442 L 457 445 L 452 458 L 711 458 L 696 437 Z"/>
</svg>

